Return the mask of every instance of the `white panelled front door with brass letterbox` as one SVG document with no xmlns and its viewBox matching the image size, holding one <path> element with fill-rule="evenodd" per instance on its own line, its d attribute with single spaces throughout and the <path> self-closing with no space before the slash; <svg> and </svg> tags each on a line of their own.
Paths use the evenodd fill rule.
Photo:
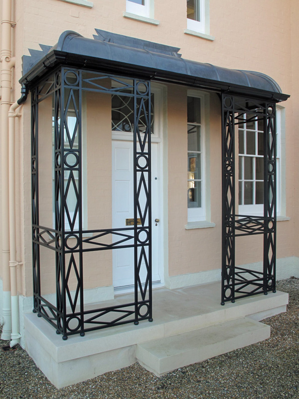
<svg viewBox="0 0 299 399">
<path fill-rule="evenodd" d="M 162 280 L 162 228 L 160 199 L 160 143 L 151 144 L 151 215 L 152 215 L 152 282 Z M 112 227 L 126 227 L 126 219 L 134 218 L 133 142 L 112 140 Z M 159 219 L 155 222 L 154 219 Z M 133 240 L 124 242 L 132 243 Z M 113 285 L 134 289 L 134 248 L 113 249 Z M 141 266 L 141 281 L 146 280 L 146 267 Z"/>
</svg>

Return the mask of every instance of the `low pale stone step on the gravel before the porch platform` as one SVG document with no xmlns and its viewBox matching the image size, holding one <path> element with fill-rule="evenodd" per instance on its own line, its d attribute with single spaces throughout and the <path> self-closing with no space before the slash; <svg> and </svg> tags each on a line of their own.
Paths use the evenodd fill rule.
<svg viewBox="0 0 299 399">
<path fill-rule="evenodd" d="M 270 337 L 270 326 L 247 317 L 137 345 L 137 359 L 160 377 Z"/>
</svg>

